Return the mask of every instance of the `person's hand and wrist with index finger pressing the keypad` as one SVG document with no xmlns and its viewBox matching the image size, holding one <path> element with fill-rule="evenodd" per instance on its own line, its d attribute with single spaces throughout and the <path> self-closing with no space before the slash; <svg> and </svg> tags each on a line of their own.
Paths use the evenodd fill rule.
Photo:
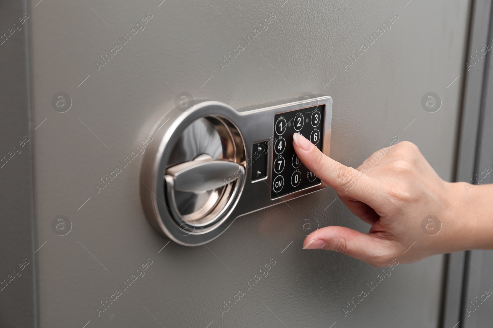
<svg viewBox="0 0 493 328">
<path fill-rule="evenodd" d="M 413 263 L 434 254 L 493 249 L 493 184 L 446 182 L 407 141 L 375 152 L 354 169 L 300 134 L 293 139 L 303 164 L 371 225 L 367 234 L 339 226 L 318 229 L 305 238 L 304 249 L 336 251 L 380 268 L 396 258 Z M 423 231 L 429 215 L 441 222 L 438 233 Z"/>
</svg>

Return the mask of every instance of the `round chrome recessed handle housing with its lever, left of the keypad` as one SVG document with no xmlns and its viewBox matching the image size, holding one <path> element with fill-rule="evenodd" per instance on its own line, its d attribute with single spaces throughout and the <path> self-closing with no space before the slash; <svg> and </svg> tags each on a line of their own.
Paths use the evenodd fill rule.
<svg viewBox="0 0 493 328">
<path fill-rule="evenodd" d="M 234 220 L 229 214 L 245 184 L 246 149 L 228 119 L 233 113 L 216 101 L 185 113 L 172 111 L 144 154 L 141 200 L 146 217 L 177 243 L 211 241 Z"/>
</svg>

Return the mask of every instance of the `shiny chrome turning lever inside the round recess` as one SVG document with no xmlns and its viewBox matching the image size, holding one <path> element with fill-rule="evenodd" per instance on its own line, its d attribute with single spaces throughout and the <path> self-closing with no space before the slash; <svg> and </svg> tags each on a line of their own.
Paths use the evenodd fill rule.
<svg viewBox="0 0 493 328">
<path fill-rule="evenodd" d="M 193 160 L 175 165 L 166 171 L 175 190 L 201 193 L 237 180 L 245 172 L 241 164 L 226 159 Z"/>
</svg>

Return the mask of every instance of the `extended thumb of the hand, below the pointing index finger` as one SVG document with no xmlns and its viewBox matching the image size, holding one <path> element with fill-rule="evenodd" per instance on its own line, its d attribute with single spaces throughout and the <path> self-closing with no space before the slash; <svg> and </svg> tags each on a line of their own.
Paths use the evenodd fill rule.
<svg viewBox="0 0 493 328">
<path fill-rule="evenodd" d="M 346 227 L 320 228 L 308 235 L 303 249 L 326 249 L 351 256 L 374 267 L 383 268 L 391 261 L 390 241 L 375 234 L 363 234 Z"/>
</svg>

